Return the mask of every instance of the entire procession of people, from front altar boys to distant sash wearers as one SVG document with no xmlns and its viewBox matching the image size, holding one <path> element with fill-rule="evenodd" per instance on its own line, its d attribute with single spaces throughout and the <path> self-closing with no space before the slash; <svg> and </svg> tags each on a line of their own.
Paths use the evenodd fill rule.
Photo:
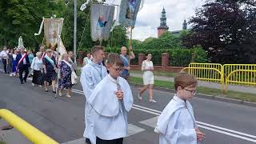
<svg viewBox="0 0 256 144">
<path fill-rule="evenodd" d="M 128 55 L 126 47 L 122 46 L 121 54 L 110 53 L 104 62 L 104 48 L 94 46 L 83 60 L 80 76 L 86 98 L 86 127 L 83 136 L 88 144 L 122 144 L 123 138 L 128 134 L 128 113 L 133 106 L 134 97 L 127 80 L 130 75 L 130 59 L 135 58 L 131 47 L 129 50 Z M 2 63 L 6 66 L 5 73 L 10 73 L 7 67 L 10 54 L 11 50 L 6 50 L 6 47 L 0 53 Z M 41 47 L 34 58 L 24 48 L 16 53 L 14 50 L 14 54 L 11 55 L 12 63 L 21 84 L 26 83 L 30 68 L 33 70 L 32 86 L 44 84 L 45 91 L 48 92 L 48 86 L 51 85 L 52 92 L 56 94 L 57 83 L 59 96 L 66 89 L 66 97 L 70 98 L 74 85 L 72 74 L 77 69 L 72 52 L 58 58 L 53 49 L 44 50 Z M 151 58 L 152 55 L 147 54 L 146 60 L 142 62 L 144 86 L 138 93 L 138 99 L 142 101 L 142 93 L 148 89 L 150 102 L 156 102 L 153 94 L 154 65 Z M 197 79 L 190 74 L 181 73 L 174 78 L 176 93 L 159 116 L 154 130 L 159 134 L 160 144 L 196 144 L 205 138 L 205 134 L 198 129 L 189 102 L 197 93 L 197 84 Z"/>
</svg>

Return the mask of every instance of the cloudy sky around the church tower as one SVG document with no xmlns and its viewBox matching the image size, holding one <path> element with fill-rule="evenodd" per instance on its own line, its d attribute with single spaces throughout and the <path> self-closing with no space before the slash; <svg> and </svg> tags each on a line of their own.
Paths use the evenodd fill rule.
<svg viewBox="0 0 256 144">
<path fill-rule="evenodd" d="M 163 7 L 166 10 L 166 25 L 169 26 L 169 31 L 173 31 L 182 30 L 184 19 L 188 21 L 194 16 L 195 9 L 203 3 L 203 0 L 145 0 L 142 10 L 137 15 L 133 39 L 143 41 L 149 37 L 158 37 Z"/>
</svg>

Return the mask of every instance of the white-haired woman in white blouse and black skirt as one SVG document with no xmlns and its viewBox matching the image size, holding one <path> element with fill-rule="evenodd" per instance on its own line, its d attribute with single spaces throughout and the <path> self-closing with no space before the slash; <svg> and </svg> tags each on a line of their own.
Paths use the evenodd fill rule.
<svg viewBox="0 0 256 144">
<path fill-rule="evenodd" d="M 42 57 L 41 52 L 37 52 L 36 57 L 34 57 L 32 60 L 32 64 L 31 64 L 31 69 L 33 70 L 32 86 L 36 84 L 41 87 L 43 84 L 41 57 Z"/>
</svg>

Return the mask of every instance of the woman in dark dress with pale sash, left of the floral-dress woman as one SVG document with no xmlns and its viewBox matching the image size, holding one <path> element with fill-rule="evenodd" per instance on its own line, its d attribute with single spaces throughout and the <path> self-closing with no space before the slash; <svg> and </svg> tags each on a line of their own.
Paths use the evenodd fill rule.
<svg viewBox="0 0 256 144">
<path fill-rule="evenodd" d="M 55 90 L 55 79 L 57 75 L 56 59 L 54 58 L 53 50 L 47 49 L 46 56 L 42 60 L 42 68 L 44 74 L 44 85 L 45 91 L 48 92 L 48 84 L 51 84 L 53 87 L 53 93 L 56 93 Z"/>
</svg>

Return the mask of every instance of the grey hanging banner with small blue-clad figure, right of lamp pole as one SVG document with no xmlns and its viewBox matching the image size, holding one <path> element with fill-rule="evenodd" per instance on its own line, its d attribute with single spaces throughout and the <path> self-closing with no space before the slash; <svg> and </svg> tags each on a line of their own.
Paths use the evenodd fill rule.
<svg viewBox="0 0 256 144">
<path fill-rule="evenodd" d="M 107 40 L 113 24 L 114 6 L 92 4 L 90 6 L 90 29 L 91 38 L 95 42 Z"/>
</svg>

